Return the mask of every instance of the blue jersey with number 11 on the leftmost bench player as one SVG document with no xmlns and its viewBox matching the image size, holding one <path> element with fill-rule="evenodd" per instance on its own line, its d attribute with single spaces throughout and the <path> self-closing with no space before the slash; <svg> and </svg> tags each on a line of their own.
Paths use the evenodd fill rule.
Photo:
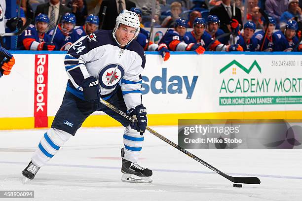
<svg viewBox="0 0 302 201">
<path fill-rule="evenodd" d="M 46 33 L 41 35 L 38 34 L 38 31 L 35 25 L 30 25 L 27 30 L 25 30 L 20 36 L 18 36 L 17 48 L 18 50 L 37 50 L 33 49 L 32 43 L 36 41 L 50 43 L 51 36 Z"/>
</svg>

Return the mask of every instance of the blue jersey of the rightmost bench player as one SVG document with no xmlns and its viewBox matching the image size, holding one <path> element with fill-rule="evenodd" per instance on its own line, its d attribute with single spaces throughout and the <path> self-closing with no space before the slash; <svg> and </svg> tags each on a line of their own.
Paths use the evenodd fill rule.
<svg viewBox="0 0 302 201">
<path fill-rule="evenodd" d="M 299 39 L 297 36 L 294 36 L 293 39 L 288 39 L 281 31 L 275 32 L 273 36 L 277 40 L 273 49 L 273 51 L 276 52 L 291 52 L 299 43 Z"/>
</svg>

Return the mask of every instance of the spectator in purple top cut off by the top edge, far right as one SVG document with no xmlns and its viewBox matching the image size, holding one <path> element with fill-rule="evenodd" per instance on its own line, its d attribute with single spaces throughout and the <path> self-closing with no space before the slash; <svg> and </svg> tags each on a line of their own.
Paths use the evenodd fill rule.
<svg viewBox="0 0 302 201">
<path fill-rule="evenodd" d="M 288 8 L 288 0 L 266 0 L 266 13 L 276 19 L 277 25 L 280 23 L 280 17 Z M 278 29 L 278 27 L 276 27 Z"/>
</svg>

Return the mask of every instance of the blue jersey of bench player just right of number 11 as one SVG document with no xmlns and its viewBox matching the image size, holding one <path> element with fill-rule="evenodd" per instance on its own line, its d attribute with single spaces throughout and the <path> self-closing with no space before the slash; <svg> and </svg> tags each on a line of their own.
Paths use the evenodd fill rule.
<svg viewBox="0 0 302 201">
<path fill-rule="evenodd" d="M 55 29 L 52 29 L 48 32 L 48 34 L 50 36 L 52 36 L 52 34 L 54 33 Z M 68 35 L 64 35 L 62 33 L 62 27 L 61 24 L 59 24 L 58 29 L 57 29 L 57 33 L 54 36 L 53 42 L 56 45 L 55 50 L 68 50 L 69 47 L 76 42 L 76 40 L 78 40 L 80 38 L 80 35 L 76 32 L 75 29 L 72 30 L 71 33 L 69 33 Z"/>
</svg>

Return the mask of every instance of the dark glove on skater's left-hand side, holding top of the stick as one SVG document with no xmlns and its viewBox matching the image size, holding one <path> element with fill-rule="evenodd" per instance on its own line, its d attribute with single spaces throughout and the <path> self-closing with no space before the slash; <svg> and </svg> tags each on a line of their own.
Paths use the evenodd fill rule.
<svg viewBox="0 0 302 201">
<path fill-rule="evenodd" d="M 101 89 L 99 82 L 93 76 L 87 77 L 81 83 L 84 100 L 91 102 L 91 107 L 97 110 L 101 104 Z"/>
</svg>

